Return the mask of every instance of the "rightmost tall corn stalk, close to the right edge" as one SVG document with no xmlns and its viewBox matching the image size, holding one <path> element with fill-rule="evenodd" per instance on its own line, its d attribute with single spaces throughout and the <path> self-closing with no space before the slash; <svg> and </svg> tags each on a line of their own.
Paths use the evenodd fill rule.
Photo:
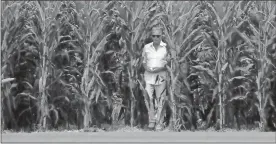
<svg viewBox="0 0 276 144">
<path fill-rule="evenodd" d="M 260 114 L 261 121 L 259 123 L 259 128 L 261 130 L 265 130 L 267 128 L 267 114 L 265 108 L 269 102 L 270 96 L 267 93 L 266 87 L 268 86 L 268 76 L 271 75 L 272 69 L 276 67 L 272 64 L 271 60 L 267 57 L 267 48 L 270 44 L 269 41 L 271 37 L 271 32 L 274 31 L 275 35 L 275 27 L 272 25 L 273 19 L 275 19 L 275 5 L 271 2 L 259 3 L 259 9 L 264 8 L 267 11 L 263 11 L 264 17 L 260 18 L 259 27 L 254 28 L 253 25 L 252 29 L 255 32 L 255 37 L 251 40 L 253 43 L 257 44 L 258 49 L 258 66 L 259 71 L 256 77 L 256 83 L 258 87 L 257 91 L 257 98 L 259 101 L 258 110 Z M 253 12 L 254 13 L 254 12 Z M 256 42 L 257 41 L 257 42 Z M 253 44 L 251 44 L 253 45 Z"/>
</svg>

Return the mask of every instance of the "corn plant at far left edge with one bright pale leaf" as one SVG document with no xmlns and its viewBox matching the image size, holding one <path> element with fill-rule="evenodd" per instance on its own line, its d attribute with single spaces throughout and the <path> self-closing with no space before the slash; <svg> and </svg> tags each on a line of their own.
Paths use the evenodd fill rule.
<svg viewBox="0 0 276 144">
<path fill-rule="evenodd" d="M 4 4 L 2 3 L 2 6 Z M 2 15 L 1 15 L 1 126 L 5 127 L 6 120 L 12 121 L 13 126 L 16 125 L 15 116 L 13 114 L 13 102 L 12 97 L 10 96 L 11 84 L 10 82 L 14 81 L 14 78 L 10 78 L 11 74 L 9 74 L 11 69 L 11 62 L 9 59 L 11 55 L 16 51 L 15 46 L 11 47 L 12 43 L 10 43 L 12 34 L 16 32 L 16 27 L 12 27 L 12 23 L 18 20 L 18 16 L 14 14 L 15 10 L 18 11 L 19 3 L 7 4 L 6 7 L 2 7 Z M 13 11 L 12 11 L 13 10 Z M 18 30 L 19 28 L 17 28 Z M 11 34 L 12 33 L 12 34 Z M 11 69 L 12 70 L 12 69 Z M 7 101 L 6 101 L 7 100 Z M 4 105 L 2 105 L 4 104 Z M 5 106 L 5 104 L 7 104 Z M 7 111 L 7 113 L 5 112 Z M 8 117 L 8 119 L 7 119 Z M 3 123 L 2 123 L 3 122 Z M 13 127 L 12 126 L 12 127 Z"/>
</svg>

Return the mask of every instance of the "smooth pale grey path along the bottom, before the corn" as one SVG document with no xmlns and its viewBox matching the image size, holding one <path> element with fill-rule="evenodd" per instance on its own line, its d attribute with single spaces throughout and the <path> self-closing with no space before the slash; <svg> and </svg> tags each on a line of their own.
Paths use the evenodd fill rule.
<svg viewBox="0 0 276 144">
<path fill-rule="evenodd" d="M 2 143 L 276 143 L 273 132 L 41 132 L 5 133 Z"/>
</svg>

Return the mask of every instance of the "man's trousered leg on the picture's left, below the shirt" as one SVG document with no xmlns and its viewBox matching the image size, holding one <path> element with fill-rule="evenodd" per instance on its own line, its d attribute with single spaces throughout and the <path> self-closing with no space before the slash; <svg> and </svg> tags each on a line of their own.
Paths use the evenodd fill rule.
<svg viewBox="0 0 276 144">
<path fill-rule="evenodd" d="M 154 87 L 151 84 L 146 83 L 146 91 L 149 95 L 149 128 L 153 128 L 155 126 L 155 110 L 154 110 L 154 99 L 153 99 L 153 92 L 154 92 Z"/>
</svg>

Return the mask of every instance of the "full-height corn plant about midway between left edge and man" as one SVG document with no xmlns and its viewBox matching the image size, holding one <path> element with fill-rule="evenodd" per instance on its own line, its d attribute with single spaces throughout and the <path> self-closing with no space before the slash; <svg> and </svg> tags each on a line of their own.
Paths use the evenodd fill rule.
<svg viewBox="0 0 276 144">
<path fill-rule="evenodd" d="M 90 9 L 92 10 L 90 11 Z M 100 20 L 101 15 L 97 9 L 97 5 L 89 4 L 83 9 L 83 14 L 85 16 L 83 24 L 86 25 L 85 29 L 82 29 L 82 32 L 87 36 L 84 39 L 86 48 L 84 62 L 86 66 L 83 71 L 80 90 L 84 103 L 84 127 L 88 128 L 92 120 L 91 105 L 98 102 L 99 96 L 106 88 L 99 76 L 99 63 L 97 62 L 100 54 L 103 52 L 107 36 L 102 36 L 105 24 L 103 20 Z M 100 41 L 98 42 L 99 38 Z M 96 46 L 93 43 L 96 43 Z"/>
</svg>

